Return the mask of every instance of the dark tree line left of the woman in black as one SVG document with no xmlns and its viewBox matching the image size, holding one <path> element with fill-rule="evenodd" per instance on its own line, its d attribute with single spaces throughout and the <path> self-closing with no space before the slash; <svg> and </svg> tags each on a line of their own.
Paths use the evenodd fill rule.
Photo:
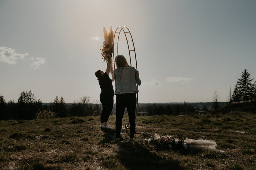
<svg viewBox="0 0 256 170">
<path fill-rule="evenodd" d="M 56 117 L 70 116 L 92 116 L 101 114 L 100 103 L 91 103 L 90 97 L 81 97 L 79 101 L 74 101 L 72 105 L 67 105 L 63 97 L 56 96 L 54 102 L 43 104 L 36 100 L 31 91 L 22 91 L 18 102 L 10 100 L 6 103 L 4 96 L 0 95 L 0 120 L 31 120 L 36 119 L 36 115 L 41 111 L 55 112 Z"/>
</svg>

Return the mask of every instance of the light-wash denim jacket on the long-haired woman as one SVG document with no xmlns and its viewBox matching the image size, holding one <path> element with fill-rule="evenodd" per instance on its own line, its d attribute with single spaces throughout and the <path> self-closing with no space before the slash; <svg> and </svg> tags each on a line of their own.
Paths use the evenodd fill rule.
<svg viewBox="0 0 256 170">
<path fill-rule="evenodd" d="M 134 67 L 118 67 L 114 70 L 116 82 L 115 95 L 124 93 L 138 93 L 137 85 L 141 84 L 139 74 Z"/>
</svg>

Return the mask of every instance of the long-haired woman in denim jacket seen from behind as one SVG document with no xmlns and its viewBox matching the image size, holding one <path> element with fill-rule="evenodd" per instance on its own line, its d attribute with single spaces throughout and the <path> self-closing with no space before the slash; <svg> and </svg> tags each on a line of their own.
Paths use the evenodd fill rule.
<svg viewBox="0 0 256 170">
<path fill-rule="evenodd" d="M 139 92 L 137 85 L 140 85 L 141 81 L 137 70 L 128 65 L 123 55 L 117 55 L 115 61 L 117 67 L 114 70 L 116 81 L 116 139 L 113 142 L 120 141 L 125 107 L 130 121 L 130 139 L 128 141 L 132 141 L 135 132 L 136 93 Z"/>
</svg>

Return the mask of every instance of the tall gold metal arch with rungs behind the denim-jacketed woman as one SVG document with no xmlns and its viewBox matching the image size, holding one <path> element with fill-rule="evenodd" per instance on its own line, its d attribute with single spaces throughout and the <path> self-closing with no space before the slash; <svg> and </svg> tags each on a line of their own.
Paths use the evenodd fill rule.
<svg viewBox="0 0 256 170">
<path fill-rule="evenodd" d="M 133 39 L 131 40 L 132 41 L 132 46 L 133 46 L 133 49 L 130 49 L 130 46 L 129 46 L 129 43 L 128 43 L 128 39 L 127 39 L 127 35 L 126 34 L 129 34 L 132 38 L 132 34 L 130 32 L 130 30 L 126 27 L 126 26 L 119 26 L 116 31 L 115 31 L 115 34 L 114 34 L 114 40 L 113 40 L 113 45 L 114 45 L 114 50 L 113 50 L 113 60 L 114 60 L 114 69 L 115 69 L 115 56 L 114 56 L 114 51 L 115 51 L 115 46 L 117 46 L 117 55 L 118 55 L 118 45 L 119 45 L 119 36 L 120 36 L 120 33 L 121 32 L 124 32 L 124 35 L 125 35 L 125 39 L 127 41 L 127 46 L 128 46 L 128 50 L 129 50 L 129 58 L 130 58 L 130 66 L 132 66 L 132 60 L 131 60 L 131 52 L 134 52 L 134 56 L 135 56 L 135 62 L 136 62 L 136 70 L 138 71 L 138 66 L 137 66 L 137 58 L 136 58 L 136 52 L 135 52 L 135 47 L 134 47 L 134 43 L 133 43 Z M 117 42 L 115 42 L 115 38 L 116 38 L 116 34 L 118 34 L 118 37 L 117 37 Z M 139 86 L 137 85 L 137 87 L 139 88 Z M 138 95 L 139 93 L 137 93 L 137 104 L 136 104 L 136 112 L 135 112 L 135 118 L 136 118 L 136 115 L 137 115 L 137 110 L 138 110 Z M 127 133 L 127 128 L 129 126 L 129 123 L 126 124 L 126 121 L 124 119 L 124 123 L 125 124 L 122 124 L 122 129 L 125 129 L 126 130 L 126 133 Z M 123 127 L 123 125 L 125 125 L 125 127 Z"/>
</svg>

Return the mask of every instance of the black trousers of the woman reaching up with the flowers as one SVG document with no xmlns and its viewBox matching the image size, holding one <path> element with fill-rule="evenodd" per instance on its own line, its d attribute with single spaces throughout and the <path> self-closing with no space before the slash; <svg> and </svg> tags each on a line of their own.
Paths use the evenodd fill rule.
<svg viewBox="0 0 256 170">
<path fill-rule="evenodd" d="M 114 99 L 113 96 L 110 97 L 100 97 L 100 102 L 102 104 L 102 112 L 100 115 L 100 123 L 108 122 L 109 115 L 113 109 Z"/>
</svg>

